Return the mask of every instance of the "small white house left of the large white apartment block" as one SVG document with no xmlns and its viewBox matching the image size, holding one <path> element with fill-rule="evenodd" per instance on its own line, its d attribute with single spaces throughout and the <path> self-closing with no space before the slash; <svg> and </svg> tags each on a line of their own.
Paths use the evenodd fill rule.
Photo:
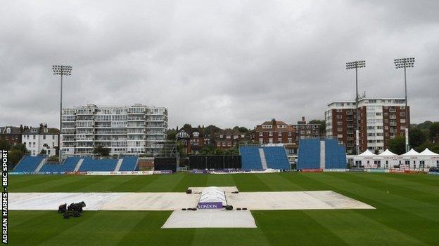
<svg viewBox="0 0 439 246">
<path fill-rule="evenodd" d="M 45 152 L 49 156 L 56 156 L 58 150 L 59 130 L 47 128 L 46 124 L 40 124 L 37 128 L 23 129 L 21 143 L 25 144 L 31 156 L 37 156 Z"/>
</svg>

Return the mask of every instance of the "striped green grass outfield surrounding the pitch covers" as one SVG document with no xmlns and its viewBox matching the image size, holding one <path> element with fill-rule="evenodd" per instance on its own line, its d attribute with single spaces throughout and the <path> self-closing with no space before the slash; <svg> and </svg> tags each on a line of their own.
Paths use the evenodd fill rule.
<svg viewBox="0 0 439 246">
<path fill-rule="evenodd" d="M 160 229 L 171 212 L 10 211 L 11 245 L 439 245 L 439 176 L 371 173 L 10 176 L 10 192 L 332 190 L 376 210 L 252 211 L 257 228 Z M 53 205 L 55 208 L 58 206 Z"/>
</svg>

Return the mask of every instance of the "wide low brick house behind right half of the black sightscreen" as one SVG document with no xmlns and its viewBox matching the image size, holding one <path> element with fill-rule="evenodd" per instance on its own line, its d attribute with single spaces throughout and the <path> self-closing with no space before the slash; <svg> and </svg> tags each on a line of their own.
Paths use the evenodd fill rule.
<svg viewBox="0 0 439 246">
<path fill-rule="evenodd" d="M 248 132 L 225 129 L 215 133 L 213 142 L 215 148 L 230 149 L 239 146 L 239 144 L 250 144 L 253 140 Z"/>
</svg>

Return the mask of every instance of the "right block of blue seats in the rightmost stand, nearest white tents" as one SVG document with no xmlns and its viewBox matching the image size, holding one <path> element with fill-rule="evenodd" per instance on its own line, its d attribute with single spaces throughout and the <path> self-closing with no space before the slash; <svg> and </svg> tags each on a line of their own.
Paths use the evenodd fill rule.
<svg viewBox="0 0 439 246">
<path fill-rule="evenodd" d="M 325 168 L 346 168 L 345 146 L 337 139 L 325 139 Z"/>
</svg>

